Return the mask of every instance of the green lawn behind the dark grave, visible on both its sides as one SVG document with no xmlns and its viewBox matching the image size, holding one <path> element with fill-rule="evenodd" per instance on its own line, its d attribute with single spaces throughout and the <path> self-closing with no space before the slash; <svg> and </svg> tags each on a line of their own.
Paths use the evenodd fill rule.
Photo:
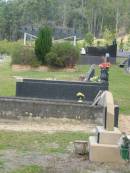
<svg viewBox="0 0 130 173">
<path fill-rule="evenodd" d="M 15 96 L 16 79 L 14 76 L 40 79 L 57 80 L 78 80 L 81 75 L 85 75 L 89 69 L 88 65 L 79 65 L 75 72 L 36 72 L 19 71 L 13 72 L 10 66 L 10 60 L 0 64 L 0 96 Z M 99 73 L 99 69 L 97 70 Z M 116 104 L 120 106 L 120 112 L 130 114 L 130 74 L 126 74 L 123 69 L 112 65 L 109 71 L 110 82 L 109 89 L 114 95 Z"/>
</svg>

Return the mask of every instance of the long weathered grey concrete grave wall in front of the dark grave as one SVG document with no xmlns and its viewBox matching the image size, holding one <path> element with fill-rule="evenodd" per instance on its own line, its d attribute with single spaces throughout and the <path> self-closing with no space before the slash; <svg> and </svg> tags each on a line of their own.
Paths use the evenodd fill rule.
<svg viewBox="0 0 130 173">
<path fill-rule="evenodd" d="M 0 97 L 0 118 L 21 117 L 86 119 L 89 123 L 103 124 L 104 108 L 90 103 L 65 102 L 22 97 Z"/>
</svg>

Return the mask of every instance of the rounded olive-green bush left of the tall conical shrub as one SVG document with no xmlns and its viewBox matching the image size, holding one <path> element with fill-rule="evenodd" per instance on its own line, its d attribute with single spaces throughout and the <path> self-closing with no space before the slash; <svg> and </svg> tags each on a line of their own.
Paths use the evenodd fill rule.
<svg viewBox="0 0 130 173">
<path fill-rule="evenodd" d="M 40 65 L 40 62 L 37 60 L 32 47 L 20 46 L 17 49 L 14 49 L 12 53 L 12 64 L 37 67 Z"/>
</svg>

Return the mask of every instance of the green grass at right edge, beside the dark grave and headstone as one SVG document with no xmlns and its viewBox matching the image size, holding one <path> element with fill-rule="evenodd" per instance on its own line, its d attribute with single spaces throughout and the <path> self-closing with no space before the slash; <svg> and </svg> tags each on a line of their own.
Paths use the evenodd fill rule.
<svg viewBox="0 0 130 173">
<path fill-rule="evenodd" d="M 114 66 L 110 70 L 110 91 L 120 106 L 121 113 L 130 113 L 130 74 Z"/>
</svg>

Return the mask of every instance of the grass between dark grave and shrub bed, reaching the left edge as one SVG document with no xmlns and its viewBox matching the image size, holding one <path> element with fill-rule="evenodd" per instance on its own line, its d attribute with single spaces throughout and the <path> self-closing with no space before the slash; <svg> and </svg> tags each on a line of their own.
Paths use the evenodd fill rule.
<svg viewBox="0 0 130 173">
<path fill-rule="evenodd" d="M 22 76 L 25 78 L 56 78 L 57 80 L 77 80 L 80 75 L 87 72 L 88 66 L 77 67 L 75 72 L 63 72 L 63 71 L 20 71 L 13 72 L 10 66 L 10 59 L 7 59 L 5 63 L 0 64 L 0 96 L 15 96 L 16 79 L 14 76 Z"/>
</svg>

